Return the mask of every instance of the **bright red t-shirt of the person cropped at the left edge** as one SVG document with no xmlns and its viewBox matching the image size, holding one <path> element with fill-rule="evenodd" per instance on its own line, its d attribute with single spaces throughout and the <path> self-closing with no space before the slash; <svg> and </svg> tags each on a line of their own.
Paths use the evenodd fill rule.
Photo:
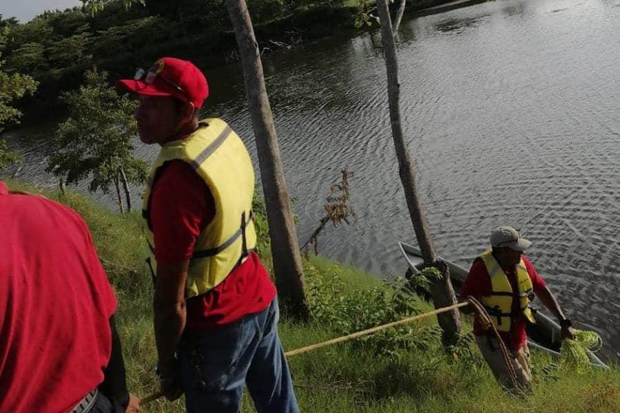
<svg viewBox="0 0 620 413">
<path fill-rule="evenodd" d="M 86 224 L 0 182 L 0 412 L 68 412 L 103 381 L 114 291 Z"/>
</svg>

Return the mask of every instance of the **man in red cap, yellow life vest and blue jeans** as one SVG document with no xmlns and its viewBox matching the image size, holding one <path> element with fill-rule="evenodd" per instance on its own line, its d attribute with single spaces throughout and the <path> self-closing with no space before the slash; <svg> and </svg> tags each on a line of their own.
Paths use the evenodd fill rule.
<svg viewBox="0 0 620 413">
<path fill-rule="evenodd" d="M 198 120 L 207 80 L 165 57 L 117 85 L 139 94 L 142 142 L 161 151 L 143 198 L 157 262 L 154 328 L 162 389 L 188 412 L 298 412 L 278 337 L 278 299 L 254 251 L 254 168 L 221 119 Z"/>
</svg>

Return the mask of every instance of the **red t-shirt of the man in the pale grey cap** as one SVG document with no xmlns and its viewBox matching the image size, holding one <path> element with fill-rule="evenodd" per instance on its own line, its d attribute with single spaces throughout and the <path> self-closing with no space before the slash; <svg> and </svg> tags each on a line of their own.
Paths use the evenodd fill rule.
<svg viewBox="0 0 620 413">
<path fill-rule="evenodd" d="M 532 280 L 534 293 L 538 295 L 540 291 L 545 288 L 546 282 L 538 275 L 530 260 L 528 260 L 525 255 L 523 255 L 522 258 L 528 270 L 528 275 Z M 515 272 L 506 273 L 506 277 L 508 277 L 513 291 L 517 291 L 517 277 Z M 490 277 L 488 276 L 484 262 L 482 262 L 482 260 L 475 260 L 465 279 L 463 288 L 461 288 L 461 299 L 465 299 L 468 295 L 471 295 L 475 299 L 480 299 L 480 297 L 485 295 L 491 295 L 492 291 Z M 513 318 L 510 331 L 500 331 L 499 335 L 502 336 L 504 343 L 506 343 L 506 346 L 508 346 L 510 350 L 517 351 L 525 345 L 528 339 L 526 334 L 527 320 L 523 313 L 521 313 L 519 300 L 513 299 L 512 313 L 517 314 L 517 316 Z M 476 322 L 474 322 L 473 332 L 474 335 L 484 335 L 482 327 Z"/>
</svg>

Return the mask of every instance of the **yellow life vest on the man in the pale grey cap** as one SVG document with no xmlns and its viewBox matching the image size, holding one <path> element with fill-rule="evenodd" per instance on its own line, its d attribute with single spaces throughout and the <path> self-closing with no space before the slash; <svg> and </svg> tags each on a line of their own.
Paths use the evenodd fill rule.
<svg viewBox="0 0 620 413">
<path fill-rule="evenodd" d="M 513 323 L 513 299 L 519 299 L 521 312 L 529 321 L 535 323 L 532 310 L 528 307 L 531 301 L 530 296 L 533 294 L 532 280 L 523 259 L 521 258 L 516 268 L 518 292 L 515 294 L 506 273 L 493 257 L 493 253 L 490 250 L 486 251 L 479 258 L 486 266 L 492 290 L 491 295 L 482 297 L 480 301 L 493 320 L 495 328 L 499 331 L 510 331 Z"/>
</svg>

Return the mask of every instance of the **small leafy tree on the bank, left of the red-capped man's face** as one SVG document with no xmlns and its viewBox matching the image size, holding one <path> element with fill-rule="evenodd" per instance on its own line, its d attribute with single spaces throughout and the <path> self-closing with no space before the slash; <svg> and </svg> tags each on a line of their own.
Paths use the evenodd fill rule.
<svg viewBox="0 0 620 413">
<path fill-rule="evenodd" d="M 122 185 L 127 211 L 131 211 L 128 183 L 143 184 L 147 179 L 146 163 L 132 155 L 136 102 L 118 96 L 108 84 L 107 72 L 87 70 L 84 81 L 79 90 L 62 96 L 69 118 L 56 131 L 48 171 L 69 184 L 90 176 L 92 192 L 109 193 L 114 184 L 118 209 L 124 212 Z"/>
</svg>

